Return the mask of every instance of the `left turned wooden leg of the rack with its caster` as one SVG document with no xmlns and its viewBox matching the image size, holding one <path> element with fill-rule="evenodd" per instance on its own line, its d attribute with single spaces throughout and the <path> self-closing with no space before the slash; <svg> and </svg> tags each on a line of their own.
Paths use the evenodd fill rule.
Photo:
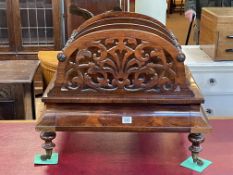
<svg viewBox="0 0 233 175">
<path fill-rule="evenodd" d="M 53 139 L 55 139 L 56 133 L 55 132 L 41 132 L 40 138 L 45 141 L 44 144 L 42 144 L 42 148 L 45 149 L 45 155 L 41 156 L 42 160 L 50 159 L 53 153 L 53 148 L 55 147 L 55 144 L 52 142 Z"/>
</svg>

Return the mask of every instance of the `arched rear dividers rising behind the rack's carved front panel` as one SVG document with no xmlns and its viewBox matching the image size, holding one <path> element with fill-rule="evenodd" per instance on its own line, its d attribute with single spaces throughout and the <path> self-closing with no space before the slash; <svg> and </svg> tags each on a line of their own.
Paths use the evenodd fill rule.
<svg viewBox="0 0 233 175">
<path fill-rule="evenodd" d="M 171 43 L 173 43 L 178 50 L 181 50 L 179 43 L 176 38 L 166 29 L 166 27 L 159 21 L 149 16 L 145 16 L 137 13 L 130 12 L 106 12 L 97 15 L 89 20 L 87 20 L 83 25 L 81 25 L 77 30 L 74 30 L 73 35 L 68 40 L 67 45 L 73 42 L 78 37 L 83 34 L 89 33 L 91 31 L 96 31 L 98 28 L 103 28 L 108 25 L 129 25 L 145 27 L 145 30 L 153 30 L 155 34 L 162 36 Z M 65 46 L 65 47 L 66 47 Z"/>
</svg>

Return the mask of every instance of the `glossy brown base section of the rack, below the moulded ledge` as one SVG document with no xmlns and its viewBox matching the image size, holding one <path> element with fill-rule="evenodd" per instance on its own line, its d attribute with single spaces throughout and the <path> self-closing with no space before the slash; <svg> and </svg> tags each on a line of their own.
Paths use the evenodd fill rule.
<svg viewBox="0 0 233 175">
<path fill-rule="evenodd" d="M 208 133 L 211 127 L 198 105 L 56 104 L 47 106 L 37 130 Z"/>
</svg>

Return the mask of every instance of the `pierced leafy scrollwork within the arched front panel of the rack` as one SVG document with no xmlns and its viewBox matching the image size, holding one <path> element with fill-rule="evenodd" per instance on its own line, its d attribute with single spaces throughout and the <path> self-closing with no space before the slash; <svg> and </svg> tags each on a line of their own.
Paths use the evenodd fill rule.
<svg viewBox="0 0 233 175">
<path fill-rule="evenodd" d="M 135 38 L 84 44 L 66 67 L 62 90 L 175 91 L 176 67 L 161 46 Z"/>
</svg>

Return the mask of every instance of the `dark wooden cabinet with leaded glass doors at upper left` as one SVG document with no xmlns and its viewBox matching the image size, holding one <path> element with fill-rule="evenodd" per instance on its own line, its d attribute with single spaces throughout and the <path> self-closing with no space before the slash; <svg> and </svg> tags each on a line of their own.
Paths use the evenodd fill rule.
<svg viewBox="0 0 233 175">
<path fill-rule="evenodd" d="M 0 0 L 0 59 L 33 59 L 61 49 L 59 0 Z"/>
</svg>

